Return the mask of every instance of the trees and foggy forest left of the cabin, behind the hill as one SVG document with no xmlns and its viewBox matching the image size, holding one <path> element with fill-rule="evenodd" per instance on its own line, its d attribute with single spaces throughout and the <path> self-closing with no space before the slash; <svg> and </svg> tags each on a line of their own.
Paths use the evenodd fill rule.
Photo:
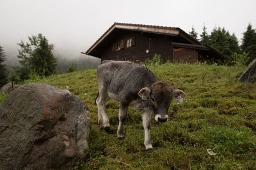
<svg viewBox="0 0 256 170">
<path fill-rule="evenodd" d="M 50 44 L 42 34 L 28 37 L 28 39 L 27 43 L 24 41 L 17 43 L 20 47 L 19 55 L 17 55 L 20 66 L 12 67 L 13 71 L 10 73 L 3 64 L 6 56 L 3 47 L 0 46 L 0 87 L 8 81 L 19 83 L 19 81 L 28 80 L 32 76 L 42 78 L 51 74 L 69 73 L 77 69 L 96 67 L 97 63 L 84 57 L 76 60 L 58 57 L 57 60 L 57 57 L 53 55 L 54 45 Z"/>
</svg>

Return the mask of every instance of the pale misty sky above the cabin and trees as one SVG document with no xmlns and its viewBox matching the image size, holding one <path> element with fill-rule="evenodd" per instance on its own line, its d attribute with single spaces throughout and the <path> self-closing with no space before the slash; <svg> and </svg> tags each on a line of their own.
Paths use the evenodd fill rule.
<svg viewBox="0 0 256 170">
<path fill-rule="evenodd" d="M 225 27 L 238 39 L 250 22 L 256 27 L 255 0 L 0 0 L 0 45 L 8 58 L 16 57 L 21 40 L 42 33 L 54 53 L 81 57 L 114 22 L 180 27 L 192 25 L 200 34 Z"/>
</svg>

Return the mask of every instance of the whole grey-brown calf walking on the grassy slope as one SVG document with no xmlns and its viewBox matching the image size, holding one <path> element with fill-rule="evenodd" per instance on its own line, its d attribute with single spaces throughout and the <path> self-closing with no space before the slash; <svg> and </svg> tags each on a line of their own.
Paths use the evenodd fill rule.
<svg viewBox="0 0 256 170">
<path fill-rule="evenodd" d="M 172 89 L 168 83 L 158 81 L 147 67 L 132 62 L 104 60 L 97 69 L 97 78 L 98 124 L 109 131 L 109 119 L 105 111 L 105 103 L 109 98 L 120 101 L 118 138 L 124 137 L 123 124 L 127 117 L 128 106 L 133 106 L 136 111 L 143 110 L 146 150 L 153 148 L 149 134 L 152 111 L 157 122 L 166 122 L 172 97 L 175 97 L 179 103 L 186 97 L 182 90 Z"/>
</svg>

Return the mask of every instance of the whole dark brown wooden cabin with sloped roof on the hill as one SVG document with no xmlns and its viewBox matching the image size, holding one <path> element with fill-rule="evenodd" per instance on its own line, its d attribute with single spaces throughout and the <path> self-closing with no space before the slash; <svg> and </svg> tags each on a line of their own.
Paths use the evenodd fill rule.
<svg viewBox="0 0 256 170">
<path fill-rule="evenodd" d="M 163 62 L 218 60 L 220 55 L 177 27 L 141 24 L 113 24 L 87 51 L 101 60 L 143 62 L 161 55 Z"/>
</svg>

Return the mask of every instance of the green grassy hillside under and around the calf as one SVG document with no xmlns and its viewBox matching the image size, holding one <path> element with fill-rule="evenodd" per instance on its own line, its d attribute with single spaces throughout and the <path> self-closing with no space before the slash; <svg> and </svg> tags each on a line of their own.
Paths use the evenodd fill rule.
<svg viewBox="0 0 256 170">
<path fill-rule="evenodd" d="M 150 69 L 188 95 L 182 104 L 172 101 L 168 122 L 159 124 L 152 117 L 152 152 L 145 151 L 141 114 L 132 108 L 125 139 L 116 138 L 116 101 L 106 104 L 111 132 L 99 128 L 96 69 L 30 80 L 68 89 L 90 108 L 90 152 L 77 169 L 255 169 L 256 85 L 236 81 L 245 67 L 163 64 Z"/>
</svg>

